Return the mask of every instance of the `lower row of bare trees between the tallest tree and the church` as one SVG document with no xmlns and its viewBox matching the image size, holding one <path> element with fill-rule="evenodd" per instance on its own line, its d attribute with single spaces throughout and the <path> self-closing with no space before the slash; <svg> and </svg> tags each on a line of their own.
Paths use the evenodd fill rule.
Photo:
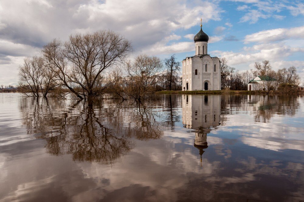
<svg viewBox="0 0 304 202">
<path fill-rule="evenodd" d="M 133 61 L 126 62 L 124 71 L 114 71 L 110 92 L 122 99 L 131 97 L 140 101 L 157 90 L 180 90 L 179 69 L 180 62 L 176 61 L 174 55 L 164 59 L 164 63 L 155 56 L 139 55 Z"/>
</svg>

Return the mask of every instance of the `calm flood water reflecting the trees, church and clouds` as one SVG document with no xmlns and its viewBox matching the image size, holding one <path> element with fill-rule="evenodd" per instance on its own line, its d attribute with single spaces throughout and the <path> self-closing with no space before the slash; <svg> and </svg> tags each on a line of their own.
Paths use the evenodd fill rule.
<svg viewBox="0 0 304 202">
<path fill-rule="evenodd" d="M 304 97 L 0 93 L 0 201 L 304 201 Z"/>
</svg>

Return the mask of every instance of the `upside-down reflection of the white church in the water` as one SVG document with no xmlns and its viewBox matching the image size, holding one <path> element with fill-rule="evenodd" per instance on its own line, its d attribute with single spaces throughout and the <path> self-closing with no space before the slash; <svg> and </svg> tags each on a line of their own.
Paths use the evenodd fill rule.
<svg viewBox="0 0 304 202">
<path fill-rule="evenodd" d="M 182 97 L 182 120 L 186 128 L 195 131 L 194 147 L 199 149 L 201 156 L 208 148 L 207 134 L 210 133 L 210 127 L 219 126 L 220 121 L 220 96 L 196 96 L 183 95 Z"/>
</svg>

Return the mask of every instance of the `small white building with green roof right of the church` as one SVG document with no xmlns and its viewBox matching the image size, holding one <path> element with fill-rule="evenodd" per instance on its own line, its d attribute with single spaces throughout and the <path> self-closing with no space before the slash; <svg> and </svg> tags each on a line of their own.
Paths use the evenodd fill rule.
<svg viewBox="0 0 304 202">
<path fill-rule="evenodd" d="M 272 86 L 274 89 L 277 89 L 275 81 L 275 78 L 270 78 L 269 76 L 257 76 L 248 82 L 247 90 L 268 90 L 268 86 Z"/>
</svg>

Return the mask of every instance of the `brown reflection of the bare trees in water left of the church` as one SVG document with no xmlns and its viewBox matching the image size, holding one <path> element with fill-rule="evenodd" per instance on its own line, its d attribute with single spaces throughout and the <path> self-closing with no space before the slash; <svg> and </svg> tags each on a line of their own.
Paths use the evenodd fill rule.
<svg viewBox="0 0 304 202">
<path fill-rule="evenodd" d="M 150 140 L 164 134 L 146 106 L 103 100 L 82 102 L 26 99 L 20 104 L 28 134 L 45 139 L 51 155 L 71 154 L 76 162 L 114 164 L 135 146 L 133 138 Z"/>
</svg>

